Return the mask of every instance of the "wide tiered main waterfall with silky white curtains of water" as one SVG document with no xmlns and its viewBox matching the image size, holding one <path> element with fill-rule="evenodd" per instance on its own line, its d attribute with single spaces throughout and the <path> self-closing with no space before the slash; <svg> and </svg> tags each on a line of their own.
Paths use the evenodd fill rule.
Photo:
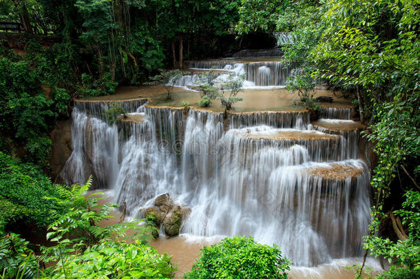
<svg viewBox="0 0 420 279">
<path fill-rule="evenodd" d="M 105 119 L 109 103 L 76 103 L 65 183 L 93 174 L 138 218 L 169 193 L 191 207 L 184 236 L 251 235 L 280 245 L 297 266 L 361 256 L 370 174 L 350 109 L 324 109 L 328 118 L 311 123 L 308 112 L 224 116 L 121 103 L 132 114 L 114 125 Z"/>
</svg>

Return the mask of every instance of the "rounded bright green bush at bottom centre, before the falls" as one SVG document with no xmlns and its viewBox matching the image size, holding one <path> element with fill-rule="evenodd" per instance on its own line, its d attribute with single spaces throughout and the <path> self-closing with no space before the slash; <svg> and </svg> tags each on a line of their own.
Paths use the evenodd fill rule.
<svg viewBox="0 0 420 279">
<path fill-rule="evenodd" d="M 184 278 L 287 278 L 288 263 L 275 245 L 262 245 L 243 236 L 224 238 L 204 247 Z"/>
</svg>

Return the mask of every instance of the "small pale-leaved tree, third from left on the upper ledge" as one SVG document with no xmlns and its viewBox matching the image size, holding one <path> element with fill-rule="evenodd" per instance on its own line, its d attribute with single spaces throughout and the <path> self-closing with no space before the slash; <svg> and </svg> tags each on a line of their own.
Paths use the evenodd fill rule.
<svg viewBox="0 0 420 279">
<path fill-rule="evenodd" d="M 224 85 L 222 85 L 222 91 L 217 92 L 217 98 L 220 100 L 220 103 L 227 110 L 231 110 L 233 103 L 242 101 L 243 99 L 238 97 L 239 92 L 242 92 L 242 85 L 244 85 L 245 76 L 235 77 L 232 74 L 229 75 L 229 79 Z M 227 92 L 225 92 L 225 90 Z M 229 92 L 229 94 L 228 94 Z"/>
</svg>

